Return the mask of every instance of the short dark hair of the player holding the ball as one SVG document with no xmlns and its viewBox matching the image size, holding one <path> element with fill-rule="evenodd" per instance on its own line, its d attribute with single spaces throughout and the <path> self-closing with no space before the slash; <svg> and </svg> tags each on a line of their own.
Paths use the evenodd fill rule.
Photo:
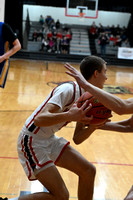
<svg viewBox="0 0 133 200">
<path fill-rule="evenodd" d="M 101 72 L 106 62 L 98 56 L 87 56 L 80 63 L 80 72 L 86 80 L 89 80 L 95 70 Z"/>
</svg>

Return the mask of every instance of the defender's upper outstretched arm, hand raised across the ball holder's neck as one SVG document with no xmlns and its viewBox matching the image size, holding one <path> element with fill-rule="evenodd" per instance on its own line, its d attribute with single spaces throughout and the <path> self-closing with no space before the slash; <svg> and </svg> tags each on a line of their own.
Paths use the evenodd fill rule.
<svg viewBox="0 0 133 200">
<path fill-rule="evenodd" d="M 69 70 L 66 72 L 68 75 L 74 77 L 82 88 L 94 95 L 104 106 L 110 110 L 119 115 L 133 113 L 133 98 L 127 100 L 120 99 L 119 97 L 90 84 L 84 79 L 82 74 L 70 64 L 65 64 L 65 68 Z"/>
</svg>

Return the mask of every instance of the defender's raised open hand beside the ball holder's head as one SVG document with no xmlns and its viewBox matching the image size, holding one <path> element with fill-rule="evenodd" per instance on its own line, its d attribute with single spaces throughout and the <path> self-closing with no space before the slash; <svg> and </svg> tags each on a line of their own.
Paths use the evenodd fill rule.
<svg viewBox="0 0 133 200">
<path fill-rule="evenodd" d="M 69 71 L 66 71 L 66 74 L 74 77 L 82 88 L 86 86 L 87 81 L 78 70 L 72 67 L 69 63 L 66 63 L 64 67 L 69 70 Z"/>
</svg>

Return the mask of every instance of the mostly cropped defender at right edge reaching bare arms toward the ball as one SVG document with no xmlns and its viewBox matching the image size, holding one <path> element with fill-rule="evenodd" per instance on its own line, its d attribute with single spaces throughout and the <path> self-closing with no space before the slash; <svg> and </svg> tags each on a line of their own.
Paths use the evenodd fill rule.
<svg viewBox="0 0 133 200">
<path fill-rule="evenodd" d="M 119 115 L 131 114 L 129 119 L 125 119 L 120 122 L 107 122 L 103 127 L 101 127 L 102 129 L 119 132 L 133 132 L 133 98 L 124 100 L 104 90 L 101 90 L 100 88 L 95 87 L 91 83 L 87 82 L 82 74 L 70 64 L 67 63 L 65 67 L 69 70 L 66 73 L 70 76 L 73 76 L 78 84 L 85 89 L 85 91 L 89 91 L 101 103 L 103 103 L 104 106 L 108 107 L 110 110 Z M 129 190 L 124 200 L 133 200 L 133 186 Z"/>
</svg>

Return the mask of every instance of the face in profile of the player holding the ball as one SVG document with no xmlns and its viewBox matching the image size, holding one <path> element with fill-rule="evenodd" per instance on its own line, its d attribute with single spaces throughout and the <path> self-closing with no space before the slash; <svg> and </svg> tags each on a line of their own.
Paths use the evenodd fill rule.
<svg viewBox="0 0 133 200">
<path fill-rule="evenodd" d="M 98 85 L 97 87 L 103 88 L 105 81 L 107 80 L 107 66 L 106 64 L 103 66 L 103 69 L 101 72 L 98 73 L 97 81 Z"/>
</svg>

